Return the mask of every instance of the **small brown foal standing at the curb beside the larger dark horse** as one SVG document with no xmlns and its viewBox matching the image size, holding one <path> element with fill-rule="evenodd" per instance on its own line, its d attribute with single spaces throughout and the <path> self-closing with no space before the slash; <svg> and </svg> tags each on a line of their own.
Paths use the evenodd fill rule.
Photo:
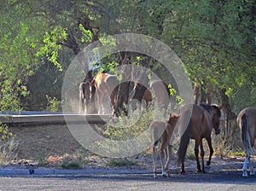
<svg viewBox="0 0 256 191">
<path fill-rule="evenodd" d="M 152 158 L 154 164 L 154 177 L 157 177 L 155 157 L 158 142 L 161 142 L 160 161 L 162 167 L 162 176 L 166 177 L 166 174 L 169 172 L 169 163 L 172 155 L 172 133 L 175 125 L 177 124 L 177 119 L 177 114 L 170 114 L 169 121 L 154 121 L 152 124 L 150 124 L 150 133 L 153 144 Z"/>
</svg>

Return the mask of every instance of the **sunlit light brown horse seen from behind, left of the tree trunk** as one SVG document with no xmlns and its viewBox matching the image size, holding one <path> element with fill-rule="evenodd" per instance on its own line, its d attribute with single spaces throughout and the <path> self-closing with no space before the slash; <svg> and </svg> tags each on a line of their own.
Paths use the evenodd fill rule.
<svg viewBox="0 0 256 191">
<path fill-rule="evenodd" d="M 96 89 L 98 114 L 113 113 L 118 84 L 116 76 L 109 73 L 99 72 L 92 79 L 91 88 Z"/>
</svg>

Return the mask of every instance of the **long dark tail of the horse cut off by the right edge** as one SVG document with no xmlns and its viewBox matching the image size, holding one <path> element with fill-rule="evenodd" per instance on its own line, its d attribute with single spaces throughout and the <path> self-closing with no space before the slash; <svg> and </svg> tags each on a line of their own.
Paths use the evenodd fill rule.
<svg viewBox="0 0 256 191">
<path fill-rule="evenodd" d="M 243 113 L 241 116 L 241 142 L 246 149 L 247 156 L 253 155 L 254 152 L 250 142 L 249 124 L 246 113 Z"/>
</svg>

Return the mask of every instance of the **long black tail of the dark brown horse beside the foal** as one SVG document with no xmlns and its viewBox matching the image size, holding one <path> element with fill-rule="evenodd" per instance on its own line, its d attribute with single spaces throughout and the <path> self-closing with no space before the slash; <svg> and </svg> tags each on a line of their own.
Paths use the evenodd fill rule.
<svg viewBox="0 0 256 191">
<path fill-rule="evenodd" d="M 187 129 L 184 130 L 183 136 L 181 136 L 179 148 L 177 150 L 177 165 L 181 165 L 184 161 L 185 154 L 187 152 L 187 148 L 190 140 L 190 132 L 191 132 L 191 119 L 189 120 L 189 124 Z"/>
</svg>

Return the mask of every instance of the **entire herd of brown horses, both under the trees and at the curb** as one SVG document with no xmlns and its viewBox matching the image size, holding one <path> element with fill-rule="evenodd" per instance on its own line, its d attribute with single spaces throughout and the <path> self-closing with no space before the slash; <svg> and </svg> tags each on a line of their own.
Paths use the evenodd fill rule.
<svg viewBox="0 0 256 191">
<path fill-rule="evenodd" d="M 82 112 L 84 103 L 84 113 L 88 113 L 88 106 L 96 100 L 96 107 L 99 114 L 106 113 L 108 107 L 114 113 L 118 104 L 118 79 L 111 74 L 99 72 L 90 81 L 79 85 L 79 112 Z M 154 88 L 155 96 L 161 104 L 165 105 L 169 97 L 163 96 L 162 91 L 167 90 L 167 85 L 162 81 L 153 81 L 149 87 Z M 162 88 L 164 87 L 164 89 Z M 153 100 L 150 89 L 144 88 L 134 83 L 131 91 L 138 101 L 145 101 L 146 106 Z M 159 90 L 158 90 L 159 89 Z M 168 91 L 168 90 L 167 90 Z M 96 99 L 95 99 L 96 96 Z M 133 97 L 134 98 L 134 97 Z M 104 104 L 108 103 L 108 106 Z M 169 163 L 172 158 L 172 143 L 175 137 L 180 137 L 179 148 L 177 150 L 177 165 L 181 165 L 181 173 L 184 173 L 184 159 L 190 139 L 195 140 L 195 159 L 197 171 L 206 173 L 204 165 L 204 149 L 202 139 L 207 140 L 209 147 L 209 159 L 207 166 L 211 165 L 212 159 L 212 129 L 215 134 L 220 132 L 219 123 L 221 118 L 221 107 L 210 104 L 187 104 L 178 110 L 178 113 L 171 113 L 167 121 L 153 121 L 150 124 L 152 139 L 152 157 L 154 163 L 154 177 L 157 177 L 156 153 L 157 145 L 160 142 L 160 162 L 162 176 L 166 177 L 169 171 Z M 246 151 L 246 159 L 242 166 L 242 177 L 248 177 L 247 164 L 249 164 L 250 175 L 254 175 L 253 163 L 250 156 L 253 155 L 253 145 L 256 138 L 256 108 L 247 107 L 239 113 L 236 122 L 241 131 L 241 142 Z M 201 153 L 201 163 L 199 159 L 199 148 Z"/>
</svg>

